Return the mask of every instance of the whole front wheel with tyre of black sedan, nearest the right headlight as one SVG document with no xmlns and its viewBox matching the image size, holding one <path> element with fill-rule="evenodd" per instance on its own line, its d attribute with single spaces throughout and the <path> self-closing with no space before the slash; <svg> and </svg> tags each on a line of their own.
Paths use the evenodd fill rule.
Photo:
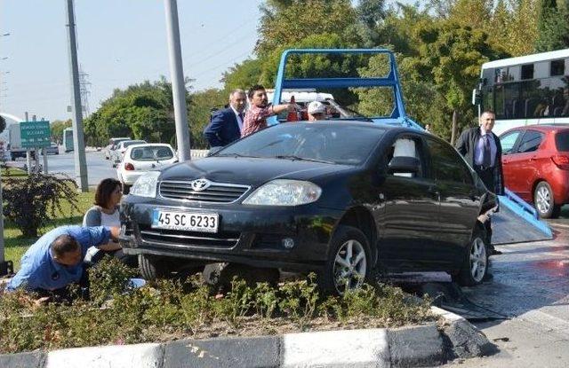
<svg viewBox="0 0 569 368">
<path fill-rule="evenodd" d="M 372 269 L 372 252 L 365 234 L 341 225 L 330 240 L 328 260 L 318 275 L 318 285 L 325 294 L 344 294 L 347 288 L 369 281 Z"/>
</svg>

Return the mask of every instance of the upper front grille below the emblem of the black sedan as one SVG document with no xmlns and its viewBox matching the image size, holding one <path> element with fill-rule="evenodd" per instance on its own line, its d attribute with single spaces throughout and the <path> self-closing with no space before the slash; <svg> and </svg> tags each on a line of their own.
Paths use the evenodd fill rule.
<svg viewBox="0 0 569 368">
<path fill-rule="evenodd" d="M 160 182 L 160 195 L 170 200 L 190 200 L 208 203 L 235 202 L 249 190 L 247 185 L 212 183 L 203 191 L 192 189 L 192 181 L 163 181 Z"/>
</svg>

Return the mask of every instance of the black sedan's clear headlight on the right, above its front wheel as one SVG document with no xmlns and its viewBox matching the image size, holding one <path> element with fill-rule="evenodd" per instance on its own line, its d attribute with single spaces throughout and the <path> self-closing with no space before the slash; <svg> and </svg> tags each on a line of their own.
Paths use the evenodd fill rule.
<svg viewBox="0 0 569 368">
<path fill-rule="evenodd" d="M 316 202 L 322 194 L 317 184 L 300 180 L 277 179 L 260 186 L 243 201 L 244 205 L 300 206 Z"/>
</svg>

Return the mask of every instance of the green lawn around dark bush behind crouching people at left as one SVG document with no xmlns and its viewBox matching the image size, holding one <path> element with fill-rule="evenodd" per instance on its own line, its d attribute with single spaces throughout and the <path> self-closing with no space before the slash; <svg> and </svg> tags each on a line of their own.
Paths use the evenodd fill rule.
<svg viewBox="0 0 569 368">
<path fill-rule="evenodd" d="M 8 175 L 10 176 L 26 176 L 27 174 L 17 168 L 9 168 Z M 6 176 L 6 171 L 2 171 L 2 176 Z M 79 212 L 72 210 L 67 202 L 62 203 L 62 211 L 57 214 L 50 223 L 40 228 L 41 234 L 46 233 L 61 225 L 81 224 L 83 222 L 83 215 L 92 207 L 94 200 L 94 192 L 80 192 L 77 196 L 77 207 Z M 29 246 L 36 242 L 37 238 L 24 238 L 21 231 L 16 228 L 14 223 L 4 221 L 4 258 L 6 261 L 12 261 L 14 264 L 14 271 L 20 269 L 20 258 L 26 252 Z"/>
</svg>

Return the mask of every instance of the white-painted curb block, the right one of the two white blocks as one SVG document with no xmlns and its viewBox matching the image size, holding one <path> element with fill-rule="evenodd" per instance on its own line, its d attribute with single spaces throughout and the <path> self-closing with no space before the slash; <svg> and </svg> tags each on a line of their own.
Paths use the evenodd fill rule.
<svg viewBox="0 0 569 368">
<path fill-rule="evenodd" d="M 287 333 L 283 335 L 282 367 L 389 367 L 385 329 Z"/>
</svg>

